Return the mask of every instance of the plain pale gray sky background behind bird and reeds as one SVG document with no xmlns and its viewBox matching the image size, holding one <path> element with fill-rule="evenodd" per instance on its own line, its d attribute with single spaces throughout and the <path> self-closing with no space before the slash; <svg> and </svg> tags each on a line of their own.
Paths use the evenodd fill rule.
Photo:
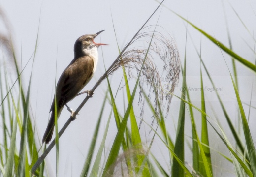
<svg viewBox="0 0 256 177">
<path fill-rule="evenodd" d="M 49 118 L 49 108 L 52 102 L 54 94 L 55 77 L 59 79 L 64 68 L 73 59 L 73 45 L 75 40 L 83 35 L 96 33 L 105 29 L 101 33 L 100 37 L 96 38 L 96 42 L 102 42 L 110 44 L 110 46 L 103 46 L 99 48 L 99 62 L 96 69 L 96 73 L 91 82 L 85 89 L 91 89 L 96 80 L 104 73 L 103 57 L 106 67 L 108 67 L 114 59 L 118 56 L 118 47 L 113 30 L 113 24 L 115 26 L 117 41 L 122 48 L 131 39 L 135 32 L 141 27 L 146 19 L 158 6 L 158 2 L 154 0 L 97 0 L 97 1 L 1 1 L 0 7 L 5 11 L 12 31 L 12 39 L 15 45 L 15 51 L 17 58 L 20 60 L 20 65 L 23 67 L 25 63 L 30 59 L 35 48 L 36 36 L 38 36 L 38 47 L 36 58 L 33 66 L 32 85 L 31 85 L 31 113 L 35 118 L 35 125 L 38 130 L 38 142 L 41 141 L 42 135 L 47 125 Z M 178 14 L 187 18 L 189 21 L 197 25 L 199 28 L 205 30 L 212 36 L 219 39 L 225 45 L 228 46 L 228 38 L 226 26 L 230 30 L 233 49 L 236 53 L 255 63 L 255 56 L 253 52 L 247 46 L 254 48 L 254 42 L 252 36 L 256 28 L 256 1 L 255 0 L 166 0 L 164 3 L 168 8 L 174 10 Z M 239 14 L 243 23 L 247 26 L 251 35 L 243 27 L 239 21 L 235 12 Z M 112 17 L 111 18 L 111 13 Z M 225 15 L 227 23 L 225 22 Z M 176 40 L 179 47 L 181 62 L 184 61 L 185 52 L 185 40 L 186 40 L 186 23 L 171 13 L 165 7 L 161 7 L 155 16 L 148 23 L 154 25 L 157 23 L 157 19 L 160 16 L 158 25 L 166 29 L 172 37 Z M 112 24 L 113 20 L 113 24 Z M 39 26 L 39 31 L 38 31 Z M 1 29 L 5 31 L 6 29 Z M 161 30 L 161 29 L 160 29 Z M 238 123 L 238 112 L 236 105 L 236 97 L 232 88 L 231 79 L 229 77 L 228 68 L 224 59 L 227 62 L 228 67 L 231 69 L 231 59 L 224 52 L 221 53 L 220 49 L 213 43 L 209 42 L 204 36 L 188 26 L 188 31 L 192 36 L 192 40 L 196 44 L 197 49 L 200 47 L 200 40 L 202 40 L 202 58 L 204 59 L 208 70 L 214 78 L 217 87 L 223 87 L 223 91 L 220 92 L 222 99 L 227 106 L 227 110 L 233 119 L 234 124 Z M 102 57 L 103 53 L 103 57 Z M 57 62 L 57 70 L 56 70 Z M 32 61 L 27 69 L 22 74 L 24 81 L 24 87 L 28 86 L 29 76 L 32 68 Z M 239 74 L 239 86 L 242 101 L 249 103 L 251 98 L 251 89 L 255 88 L 255 74 L 249 69 L 237 63 Z M 232 69 L 231 69 L 232 72 Z M 203 72 L 204 73 L 204 72 Z M 113 76 L 111 76 L 111 83 L 113 88 L 116 88 L 121 80 L 119 75 L 122 74 L 121 70 L 118 70 Z M 187 82 L 188 86 L 200 87 L 200 62 L 192 45 L 191 39 L 188 38 L 187 42 Z M 204 76 L 206 74 L 204 73 Z M 204 77 L 204 85 L 211 87 L 207 77 Z M 180 85 L 175 90 L 175 94 L 180 96 Z M 60 139 L 60 164 L 59 164 L 59 176 L 60 177 L 77 177 L 82 170 L 82 166 L 85 161 L 85 156 L 89 148 L 89 143 L 92 139 L 92 134 L 95 128 L 96 119 L 98 118 L 104 92 L 107 89 L 106 82 L 103 82 L 99 88 L 96 89 L 95 95 L 88 101 L 86 106 L 80 112 L 78 119 L 74 121 L 64 132 L 63 137 Z M 116 91 L 116 90 L 115 90 Z M 252 105 L 256 105 L 256 90 L 253 89 L 252 93 Z M 191 99 L 195 105 L 200 107 L 200 92 L 191 92 Z M 75 109 L 84 97 L 76 98 L 69 106 Z M 220 110 L 220 105 L 217 102 L 217 98 L 214 92 L 206 92 L 207 108 L 213 107 L 214 111 L 207 110 L 208 114 L 215 118 L 218 118 L 223 122 L 223 126 L 226 126 L 226 121 Z M 119 109 L 123 110 L 123 93 L 118 94 L 117 102 L 120 103 Z M 179 112 L 179 100 L 173 99 L 171 106 L 171 112 L 169 118 L 166 120 L 166 124 L 169 126 L 169 133 L 173 140 L 175 140 L 175 127 L 177 126 L 177 118 Z M 134 106 L 137 106 L 136 103 Z M 111 107 L 108 106 L 104 112 L 104 118 L 101 122 L 101 130 L 99 136 L 103 136 L 103 130 L 111 111 Z M 248 106 L 245 106 L 246 114 L 248 115 Z M 136 116 L 139 116 L 139 109 L 135 110 Z M 145 111 L 146 112 L 146 111 Z M 196 111 L 194 111 L 196 112 Z M 196 114 L 196 120 L 200 121 L 201 117 L 198 112 Z M 252 125 L 251 133 L 255 139 L 256 130 L 255 124 L 255 110 L 251 110 L 250 124 Z M 151 122 L 151 115 L 146 115 L 147 122 Z M 59 129 L 65 123 L 69 113 L 64 110 L 62 116 L 59 119 Z M 139 119 L 138 119 L 139 121 Z M 114 119 L 111 121 L 111 132 L 108 135 L 107 143 L 105 145 L 106 151 L 108 151 L 108 145 L 114 140 L 116 125 Z M 200 127 L 198 127 L 198 131 Z M 149 128 L 146 124 L 142 125 L 141 132 L 144 133 L 143 142 L 145 146 L 150 142 L 153 133 L 148 135 Z M 186 118 L 186 133 L 191 135 L 191 124 L 189 117 Z M 229 134 L 229 130 L 226 132 Z M 213 134 L 213 135 L 212 135 Z M 210 136 L 216 136 L 213 130 L 209 132 Z M 190 137 L 186 137 L 190 142 Z M 213 142 L 213 139 L 216 141 Z M 229 155 L 228 151 L 224 147 L 219 138 L 212 138 L 210 145 L 213 149 Z M 162 162 L 163 166 L 168 164 L 167 151 L 165 152 L 164 145 L 156 138 L 157 143 L 153 143 L 152 152 L 158 156 L 158 159 Z M 99 146 L 100 142 L 97 142 Z M 159 151 L 159 148 L 161 151 Z M 192 165 L 192 155 L 188 148 L 186 148 L 186 161 Z M 223 176 L 234 176 L 234 170 L 226 160 L 214 156 L 214 174 L 220 176 L 222 171 Z M 55 176 L 55 152 L 50 152 L 46 158 L 50 176 Z M 167 161 L 166 161 L 167 160 Z M 221 161 L 221 163 L 220 163 Z M 49 166 L 49 164 L 51 166 Z M 222 170 L 221 170 L 222 169 Z M 167 167 L 166 167 L 167 170 Z"/>
</svg>

